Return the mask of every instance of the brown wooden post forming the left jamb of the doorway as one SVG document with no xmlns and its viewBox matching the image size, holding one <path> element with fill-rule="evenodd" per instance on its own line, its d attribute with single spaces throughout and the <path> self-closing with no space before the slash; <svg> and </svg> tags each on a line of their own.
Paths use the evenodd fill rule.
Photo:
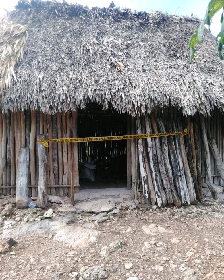
<svg viewBox="0 0 224 280">
<path fill-rule="evenodd" d="M 78 108 L 72 111 L 72 137 L 78 137 Z M 73 144 L 73 160 L 74 160 L 74 184 L 79 184 L 79 158 L 78 158 L 78 143 Z M 79 187 L 74 188 L 74 193 L 79 192 Z"/>
</svg>

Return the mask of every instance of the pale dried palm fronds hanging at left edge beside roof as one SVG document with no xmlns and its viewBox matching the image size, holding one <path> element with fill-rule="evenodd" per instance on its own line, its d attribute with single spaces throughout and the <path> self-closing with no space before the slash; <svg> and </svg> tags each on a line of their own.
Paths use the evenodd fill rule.
<svg viewBox="0 0 224 280">
<path fill-rule="evenodd" d="M 0 18 L 0 94 L 11 90 L 11 75 L 16 81 L 14 67 L 23 59 L 27 40 L 26 25 L 14 24 L 7 16 Z"/>
</svg>

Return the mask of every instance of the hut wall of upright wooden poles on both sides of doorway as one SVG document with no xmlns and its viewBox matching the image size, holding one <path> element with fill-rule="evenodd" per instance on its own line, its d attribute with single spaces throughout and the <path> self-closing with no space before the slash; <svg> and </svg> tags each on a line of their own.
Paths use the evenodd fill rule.
<svg viewBox="0 0 224 280">
<path fill-rule="evenodd" d="M 5 195 L 15 194 L 14 186 L 16 184 L 15 176 L 18 165 L 18 153 L 21 147 L 28 146 L 30 148 L 28 185 L 35 186 L 35 188 L 28 188 L 28 195 L 30 193 L 32 196 L 37 196 L 38 150 L 36 149 L 36 135 L 44 133 L 48 139 L 78 137 L 77 120 L 77 110 L 74 112 L 57 113 L 57 115 L 43 114 L 33 110 L 1 113 L 0 154 L 1 158 L 6 161 L 6 164 L 3 161 L 2 166 L 4 170 L 0 183 L 5 188 L 0 188 L 0 193 Z M 127 130 L 128 134 L 136 134 L 135 120 L 132 117 L 128 121 L 129 124 L 125 122 L 125 126 L 127 125 L 127 128 L 129 128 Z M 148 198 L 150 203 L 155 203 L 155 200 L 159 206 L 165 206 L 167 203 L 174 203 L 176 206 L 179 206 L 180 202 L 181 204 L 194 203 L 195 193 L 197 200 L 201 200 L 202 180 L 208 181 L 208 168 L 210 169 L 211 178 L 209 184 L 214 182 L 223 184 L 223 180 L 220 178 L 220 174 L 215 166 L 211 149 L 207 149 L 208 146 L 206 148 L 204 146 L 205 135 L 207 138 L 215 137 L 220 158 L 222 161 L 224 160 L 224 117 L 219 110 L 215 110 L 213 116 L 204 118 L 203 133 L 201 130 L 202 125 L 198 125 L 197 116 L 187 119 L 182 116 L 181 111 L 171 108 L 166 110 L 158 108 L 153 115 L 145 116 L 143 121 L 144 123 L 142 124 L 140 120 L 137 121 L 138 133 L 144 132 L 145 128 L 146 132 L 149 133 L 178 131 L 183 130 L 185 127 L 190 132 L 185 138 L 170 136 L 163 139 L 148 138 L 147 140 L 138 141 L 140 142 L 138 145 L 138 156 L 141 167 L 137 167 L 137 169 L 136 140 L 130 140 L 130 147 L 127 145 L 121 149 L 121 154 L 123 152 L 126 154 L 127 164 L 130 163 L 130 172 L 128 171 L 127 173 L 127 175 L 130 174 L 127 176 L 130 179 L 130 186 L 134 189 L 135 178 L 137 178 L 136 186 L 142 183 L 143 176 L 145 197 Z M 215 125 L 214 129 L 213 125 Z M 153 126 L 153 131 L 151 126 Z M 83 123 L 83 127 L 89 129 L 86 122 Z M 117 131 L 119 134 L 125 134 L 125 130 L 119 129 Z M 108 135 L 108 132 L 103 131 L 103 128 L 100 126 L 97 127 L 97 133 L 102 136 Z M 114 132 L 112 130 L 111 132 L 109 131 L 109 135 L 114 135 Z M 110 149 L 111 154 L 115 148 L 114 144 L 115 142 L 112 142 L 110 147 L 110 143 L 106 143 L 107 149 Z M 82 143 L 82 145 L 91 156 L 97 156 L 92 143 Z M 49 148 L 46 149 L 46 155 L 47 170 L 49 171 L 46 173 L 48 178 L 47 184 L 51 186 L 47 189 L 48 194 L 70 195 L 71 190 L 68 186 L 71 182 L 70 167 L 72 163 L 74 167 L 74 193 L 78 192 L 78 143 L 69 143 L 68 145 L 67 143 L 51 142 L 49 143 Z M 87 160 L 87 157 L 88 155 L 86 156 L 86 154 L 82 155 L 84 160 Z M 212 167 L 213 162 L 214 170 Z M 136 170 L 138 171 L 137 174 Z M 205 175 L 206 177 L 204 177 Z M 60 187 L 60 185 L 64 185 L 64 187 Z M 7 189 L 7 186 L 13 187 Z M 153 199 L 155 200 L 153 201 Z"/>
</svg>

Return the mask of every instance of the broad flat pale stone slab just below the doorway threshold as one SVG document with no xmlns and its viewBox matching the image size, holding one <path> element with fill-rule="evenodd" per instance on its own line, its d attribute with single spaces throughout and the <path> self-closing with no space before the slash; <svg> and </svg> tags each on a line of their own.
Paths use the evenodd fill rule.
<svg viewBox="0 0 224 280">
<path fill-rule="evenodd" d="M 115 208 L 115 204 L 123 202 L 123 198 L 102 198 L 88 202 L 80 202 L 76 204 L 77 210 L 83 212 L 107 212 L 112 211 Z"/>
</svg>

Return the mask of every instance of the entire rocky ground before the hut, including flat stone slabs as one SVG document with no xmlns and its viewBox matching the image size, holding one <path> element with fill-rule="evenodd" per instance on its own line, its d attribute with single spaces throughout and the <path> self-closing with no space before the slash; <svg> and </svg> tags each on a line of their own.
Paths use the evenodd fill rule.
<svg viewBox="0 0 224 280">
<path fill-rule="evenodd" d="M 223 200 L 159 209 L 123 195 L 95 214 L 49 200 L 46 211 L 0 199 L 0 279 L 224 279 Z"/>
</svg>

